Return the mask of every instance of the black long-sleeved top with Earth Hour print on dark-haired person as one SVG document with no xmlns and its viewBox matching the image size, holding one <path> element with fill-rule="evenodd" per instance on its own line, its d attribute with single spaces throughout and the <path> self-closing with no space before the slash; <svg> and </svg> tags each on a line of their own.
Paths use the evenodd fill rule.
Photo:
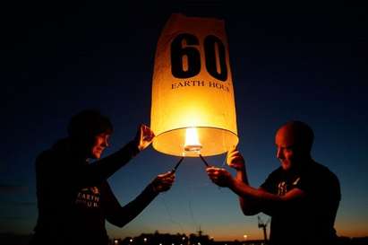
<svg viewBox="0 0 368 245">
<path fill-rule="evenodd" d="M 39 218 L 31 244 L 107 244 L 105 221 L 122 227 L 156 197 L 150 186 L 120 206 L 107 178 L 137 153 L 134 144 L 88 163 L 77 157 L 67 140 L 58 142 L 36 161 Z M 51 242 L 51 243 L 50 243 Z"/>
</svg>

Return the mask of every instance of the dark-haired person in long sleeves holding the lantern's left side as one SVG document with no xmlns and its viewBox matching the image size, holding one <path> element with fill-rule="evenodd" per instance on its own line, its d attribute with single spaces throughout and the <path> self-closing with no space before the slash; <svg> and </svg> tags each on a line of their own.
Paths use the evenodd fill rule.
<svg viewBox="0 0 368 245">
<path fill-rule="evenodd" d="M 39 218 L 30 244 L 108 244 L 105 220 L 123 227 L 171 188 L 175 175 L 158 175 L 125 206 L 120 206 L 107 178 L 151 143 L 154 134 L 141 125 L 135 138 L 100 159 L 113 127 L 96 110 L 83 110 L 68 126 L 68 137 L 40 153 L 36 161 Z M 89 162 L 90 159 L 98 161 Z M 100 159 L 100 160 L 99 160 Z"/>
</svg>

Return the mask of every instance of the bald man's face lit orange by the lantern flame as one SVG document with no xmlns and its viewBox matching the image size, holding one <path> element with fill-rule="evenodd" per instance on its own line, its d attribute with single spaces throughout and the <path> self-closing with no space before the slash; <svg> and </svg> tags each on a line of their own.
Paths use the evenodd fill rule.
<svg viewBox="0 0 368 245">
<path fill-rule="evenodd" d="M 276 157 L 285 171 L 295 168 L 303 159 L 303 152 L 296 147 L 296 139 L 290 127 L 281 127 L 275 137 Z"/>
</svg>

